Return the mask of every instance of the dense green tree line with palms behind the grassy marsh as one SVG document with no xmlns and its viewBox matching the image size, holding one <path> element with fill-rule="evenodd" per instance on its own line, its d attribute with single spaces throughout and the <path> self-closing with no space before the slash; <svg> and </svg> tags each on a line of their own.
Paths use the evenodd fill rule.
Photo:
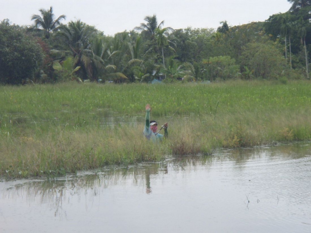
<svg viewBox="0 0 311 233">
<path fill-rule="evenodd" d="M 173 29 L 153 15 L 114 36 L 40 9 L 33 25 L 0 23 L 0 83 L 309 79 L 311 0 L 288 1 L 264 22 Z"/>
</svg>

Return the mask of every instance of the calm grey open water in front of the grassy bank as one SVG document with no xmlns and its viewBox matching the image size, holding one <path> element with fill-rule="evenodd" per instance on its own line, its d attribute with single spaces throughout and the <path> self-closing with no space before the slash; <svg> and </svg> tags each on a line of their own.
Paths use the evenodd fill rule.
<svg viewBox="0 0 311 233">
<path fill-rule="evenodd" d="M 311 232 L 311 144 L 0 182 L 0 232 Z"/>
</svg>

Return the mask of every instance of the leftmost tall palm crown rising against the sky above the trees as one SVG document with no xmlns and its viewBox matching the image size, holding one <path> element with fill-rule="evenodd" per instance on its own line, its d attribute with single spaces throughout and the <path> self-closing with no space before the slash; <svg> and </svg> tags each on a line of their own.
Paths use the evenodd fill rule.
<svg viewBox="0 0 311 233">
<path fill-rule="evenodd" d="M 58 29 L 58 26 L 61 24 L 61 20 L 65 20 L 66 16 L 61 15 L 57 19 L 55 19 L 55 15 L 53 14 L 53 7 L 50 7 L 49 10 L 40 9 L 40 15 L 32 15 L 31 20 L 35 21 L 35 25 L 32 29 L 43 30 L 45 37 L 49 38 L 51 33 Z"/>
</svg>

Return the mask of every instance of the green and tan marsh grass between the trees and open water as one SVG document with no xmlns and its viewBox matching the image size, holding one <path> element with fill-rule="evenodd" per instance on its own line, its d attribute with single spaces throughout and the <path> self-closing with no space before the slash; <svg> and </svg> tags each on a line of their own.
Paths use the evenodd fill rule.
<svg viewBox="0 0 311 233">
<path fill-rule="evenodd" d="M 0 174 L 62 175 L 221 147 L 309 140 L 310 88 L 307 81 L 1 86 Z M 160 123 L 176 112 L 161 144 L 142 136 L 146 103 Z M 114 125 L 103 122 L 109 119 L 103 112 L 141 118 L 135 127 Z"/>
</svg>

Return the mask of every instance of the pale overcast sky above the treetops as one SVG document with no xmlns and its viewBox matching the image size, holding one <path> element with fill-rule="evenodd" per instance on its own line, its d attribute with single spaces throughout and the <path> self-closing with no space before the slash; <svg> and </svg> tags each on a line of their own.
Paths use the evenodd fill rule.
<svg viewBox="0 0 311 233">
<path fill-rule="evenodd" d="M 114 35 L 133 30 L 154 14 L 158 23 L 164 20 L 164 27 L 216 29 L 225 20 L 230 26 L 265 21 L 288 11 L 291 4 L 287 0 L 0 0 L 0 20 L 32 25 L 31 16 L 50 6 L 56 17 L 66 15 L 65 24 L 80 19 Z"/>
</svg>

